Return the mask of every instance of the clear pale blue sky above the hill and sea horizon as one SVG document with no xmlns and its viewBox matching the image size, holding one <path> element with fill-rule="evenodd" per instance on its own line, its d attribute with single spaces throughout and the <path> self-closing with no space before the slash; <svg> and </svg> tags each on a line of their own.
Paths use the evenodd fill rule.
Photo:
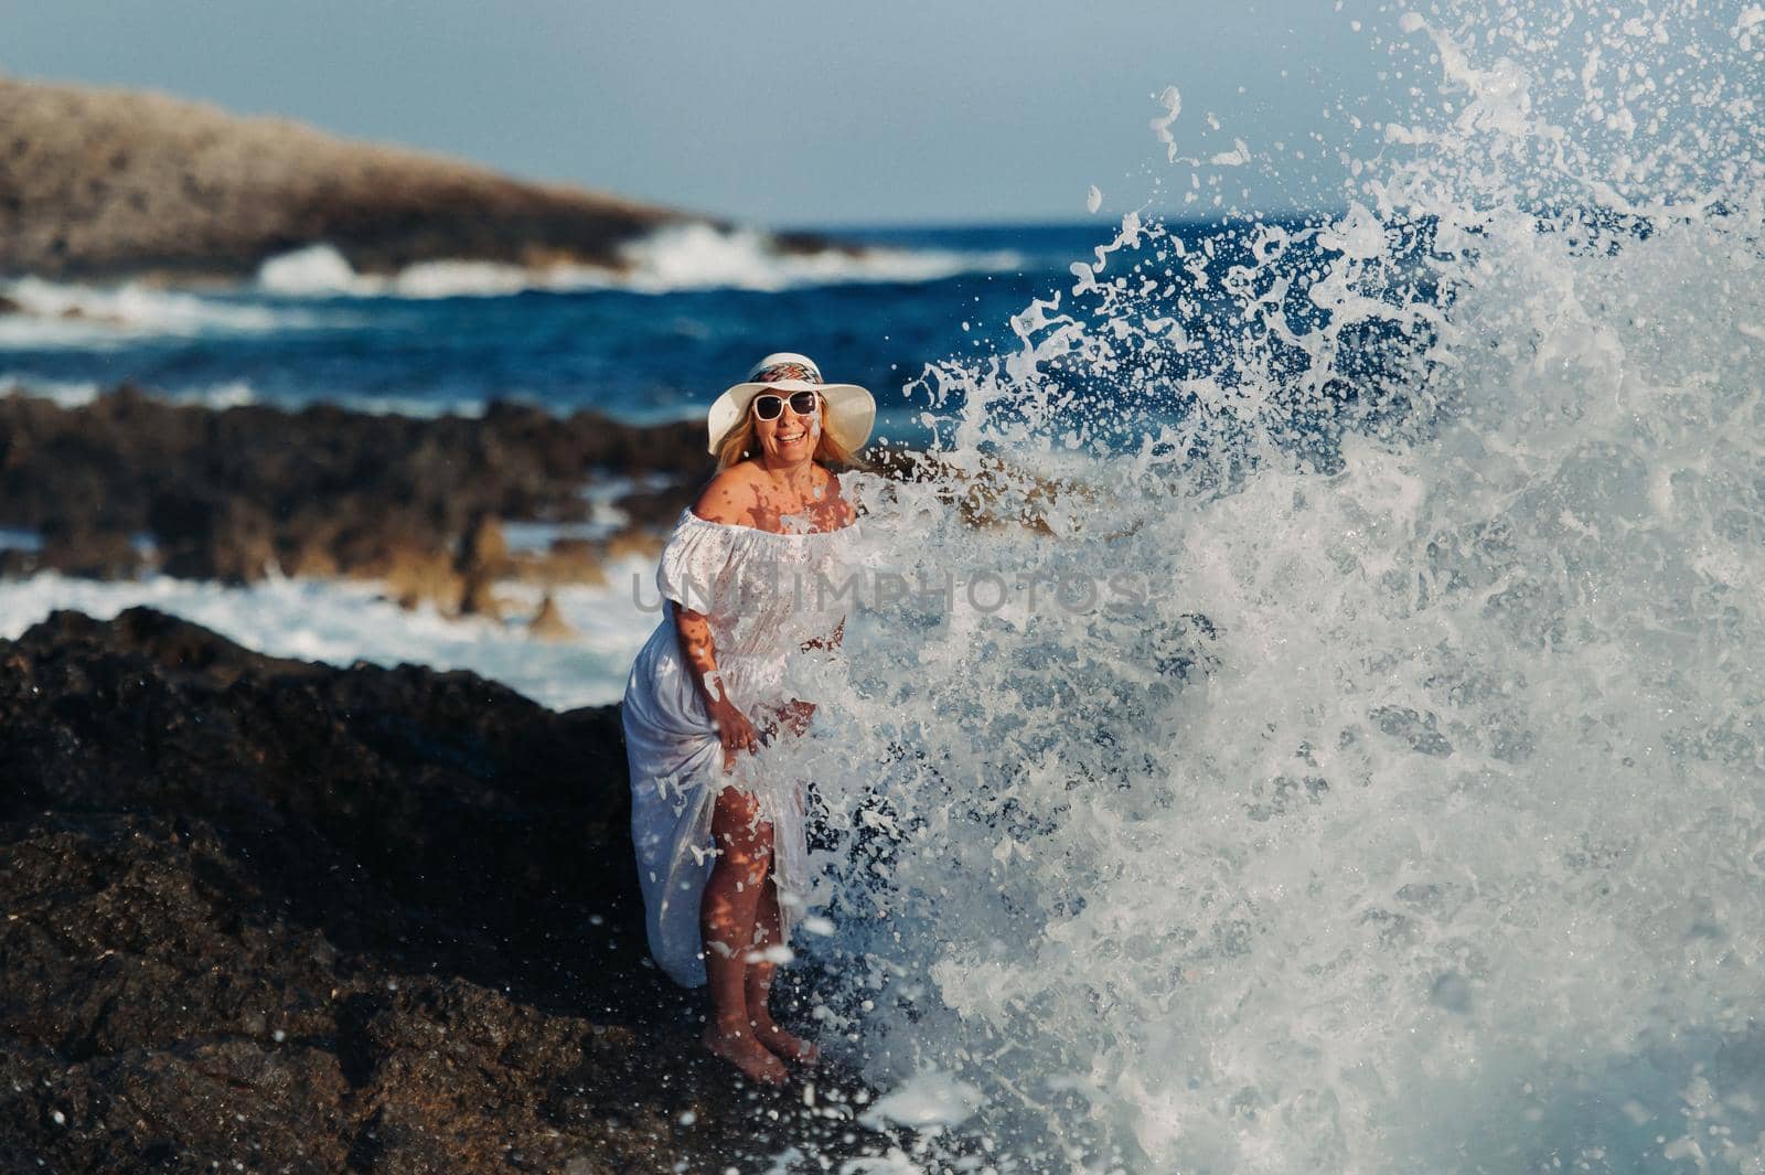
<svg viewBox="0 0 1765 1175">
<path fill-rule="evenodd" d="M 1241 138 L 1262 161 L 1227 176 L 1228 199 L 1333 206 L 1340 164 L 1308 134 L 1377 90 L 1384 58 L 1350 23 L 1373 25 L 1361 0 L 0 0 L 0 16 L 12 76 L 150 86 L 771 226 L 1084 221 L 1091 185 L 1101 217 L 1156 203 L 1190 183 L 1147 125 L 1165 86 L 1181 152 Z"/>
</svg>

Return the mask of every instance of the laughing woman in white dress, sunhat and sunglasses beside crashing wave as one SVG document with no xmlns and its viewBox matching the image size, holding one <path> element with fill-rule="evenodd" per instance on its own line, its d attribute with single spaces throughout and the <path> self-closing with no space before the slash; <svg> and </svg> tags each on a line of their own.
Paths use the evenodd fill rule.
<svg viewBox="0 0 1765 1175">
<path fill-rule="evenodd" d="M 875 402 L 777 353 L 710 411 L 717 476 L 680 515 L 657 584 L 664 616 L 625 686 L 632 842 L 650 951 L 680 984 L 710 983 L 706 1046 L 757 1081 L 817 1050 L 768 1009 L 773 970 L 803 909 L 805 780 L 771 769 L 775 734 L 808 729 L 796 662 L 828 656 L 831 591 L 856 513 L 830 464 L 870 436 Z"/>
</svg>

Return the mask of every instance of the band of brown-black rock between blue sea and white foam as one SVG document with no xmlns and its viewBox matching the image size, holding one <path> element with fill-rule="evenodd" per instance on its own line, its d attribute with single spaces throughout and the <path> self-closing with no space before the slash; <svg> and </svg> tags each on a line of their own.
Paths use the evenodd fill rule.
<svg viewBox="0 0 1765 1175">
<path fill-rule="evenodd" d="M 415 420 L 332 406 L 214 411 L 132 388 L 74 409 L 9 395 L 0 526 L 44 535 L 37 565 L 76 575 L 132 575 L 141 554 L 129 536 L 152 535 L 173 575 L 365 575 L 455 607 L 466 588 L 507 572 L 475 545 L 485 519 L 579 520 L 595 469 L 680 476 L 678 513 L 710 473 L 699 438 L 694 423 L 634 427 L 519 404 Z M 657 498 L 642 520 L 672 519 Z"/>
</svg>

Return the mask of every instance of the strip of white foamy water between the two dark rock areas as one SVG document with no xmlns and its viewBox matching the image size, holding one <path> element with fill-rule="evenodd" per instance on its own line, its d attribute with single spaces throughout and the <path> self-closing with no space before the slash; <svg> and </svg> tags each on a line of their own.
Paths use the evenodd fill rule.
<svg viewBox="0 0 1765 1175">
<path fill-rule="evenodd" d="M 0 637 L 18 637 L 55 609 L 108 619 L 146 605 L 272 656 L 469 669 L 568 709 L 614 702 L 625 690 L 632 658 L 658 619 L 646 610 L 657 603 L 653 573 L 653 563 L 625 559 L 607 568 L 605 586 L 556 589 L 558 609 L 575 630 L 558 642 L 522 628 L 540 602 L 538 591 L 522 584 L 498 591 L 512 602 L 512 619 L 491 621 L 448 619 L 427 607 L 408 612 L 385 600 L 376 584 L 272 579 L 222 588 L 169 577 L 99 582 L 56 573 L 0 580 Z"/>
</svg>

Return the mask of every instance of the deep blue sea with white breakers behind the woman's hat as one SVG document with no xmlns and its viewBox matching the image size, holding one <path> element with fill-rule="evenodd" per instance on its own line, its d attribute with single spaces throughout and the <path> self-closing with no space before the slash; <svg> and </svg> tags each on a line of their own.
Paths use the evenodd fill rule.
<svg viewBox="0 0 1765 1175">
<path fill-rule="evenodd" d="M 706 258 L 688 235 L 605 288 L 510 291 L 466 265 L 390 289 L 327 282 L 323 252 L 237 289 L 26 279 L 11 296 L 44 318 L 0 323 L 0 386 L 78 399 L 127 381 L 215 406 L 418 415 L 515 399 L 648 423 L 702 415 L 755 358 L 789 349 L 872 388 L 879 434 L 913 441 L 925 404 L 904 388 L 927 363 L 1006 346 L 1010 316 L 1091 259 L 1107 228 L 842 229 L 831 240 L 870 252 L 803 263 L 740 235 L 713 235 Z"/>
</svg>

